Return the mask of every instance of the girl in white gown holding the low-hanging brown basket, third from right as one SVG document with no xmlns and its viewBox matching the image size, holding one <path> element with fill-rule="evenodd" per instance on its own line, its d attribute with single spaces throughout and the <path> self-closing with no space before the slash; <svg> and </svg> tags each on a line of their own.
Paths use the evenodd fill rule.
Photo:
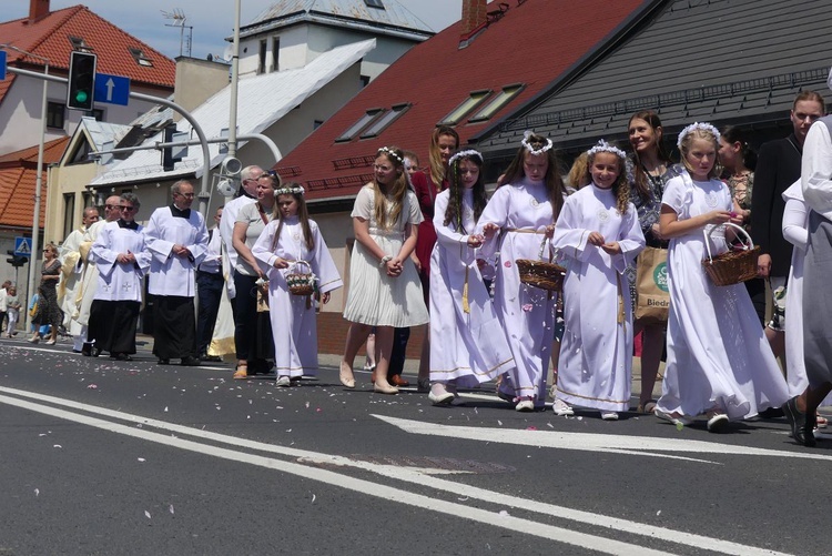
<svg viewBox="0 0 832 556">
<path fill-rule="evenodd" d="M 556 300 L 550 292 L 521 284 L 515 261 L 539 256 L 564 206 L 566 190 L 551 140 L 527 131 L 501 182 L 477 225 L 477 233 L 485 235 L 483 256 L 499 253 L 494 304 L 515 358 L 497 393 L 516 404 L 515 410 L 530 412 L 546 403 Z"/>
</svg>

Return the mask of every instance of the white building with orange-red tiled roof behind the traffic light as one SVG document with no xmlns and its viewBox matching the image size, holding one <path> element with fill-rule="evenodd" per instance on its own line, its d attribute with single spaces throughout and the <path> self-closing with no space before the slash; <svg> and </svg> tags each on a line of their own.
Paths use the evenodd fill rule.
<svg viewBox="0 0 832 556">
<path fill-rule="evenodd" d="M 0 23 L 0 42 L 49 60 L 49 73 L 67 77 L 73 50 L 98 55 L 97 71 L 124 75 L 131 90 L 154 97 L 173 93 L 175 62 L 84 6 L 50 11 L 49 0 L 30 0 L 27 18 Z M 41 58 L 23 54 L 12 48 L 8 65 L 43 72 Z M 40 140 L 40 112 L 43 84 L 39 79 L 12 72 L 0 81 L 0 154 L 17 151 Z M 47 140 L 65 137 L 80 121 L 82 112 L 67 110 L 67 87 L 49 83 Z M 126 107 L 97 102 L 99 120 L 128 123 L 152 107 L 131 100 Z"/>
</svg>

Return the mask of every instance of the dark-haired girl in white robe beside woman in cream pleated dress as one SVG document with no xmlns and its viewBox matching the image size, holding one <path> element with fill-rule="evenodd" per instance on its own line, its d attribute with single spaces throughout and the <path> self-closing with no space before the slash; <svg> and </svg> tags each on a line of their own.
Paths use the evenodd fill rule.
<svg viewBox="0 0 832 556">
<path fill-rule="evenodd" d="M 435 405 L 457 397 L 514 365 L 511 350 L 479 273 L 484 236 L 474 233 L 487 199 L 483 155 L 463 151 L 450 158 L 449 188 L 436 196 L 437 243 L 430 255 L 430 392 Z"/>
</svg>

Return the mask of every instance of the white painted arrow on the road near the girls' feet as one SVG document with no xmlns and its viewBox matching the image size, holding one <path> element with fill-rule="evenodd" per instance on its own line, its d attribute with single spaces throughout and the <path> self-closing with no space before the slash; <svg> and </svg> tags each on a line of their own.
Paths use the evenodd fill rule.
<svg viewBox="0 0 832 556">
<path fill-rule="evenodd" d="M 832 461 L 832 456 L 809 452 L 781 452 L 778 449 L 734 446 L 716 442 L 688 438 L 659 438 L 653 436 L 626 436 L 621 434 L 562 433 L 557 431 L 524 431 L 517 428 L 489 428 L 473 426 L 438 425 L 386 415 L 373 415 L 412 434 L 444 436 L 478 442 L 497 442 L 520 446 L 534 446 L 582 452 L 603 452 L 639 456 L 687 459 L 701 463 L 718 463 L 707 459 L 673 456 L 669 453 L 726 454 L 743 456 L 800 457 L 804 459 Z"/>
</svg>

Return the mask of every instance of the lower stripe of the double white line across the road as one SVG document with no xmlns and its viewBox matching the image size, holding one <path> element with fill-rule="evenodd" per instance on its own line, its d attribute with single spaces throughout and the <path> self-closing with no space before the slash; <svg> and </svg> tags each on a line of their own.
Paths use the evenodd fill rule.
<svg viewBox="0 0 832 556">
<path fill-rule="evenodd" d="M 579 546 L 581 548 L 588 548 L 590 550 L 598 550 L 603 554 L 620 556 L 636 553 L 647 556 L 662 556 L 668 554 L 664 550 L 653 550 L 642 546 L 622 543 L 620 540 L 598 537 L 585 533 L 577 533 L 574 530 L 565 529 L 562 527 L 555 527 L 552 525 L 532 522 L 530 519 L 521 519 L 511 515 L 500 515 L 496 512 L 488 512 L 485 509 L 464 506 L 461 504 L 455 504 L 443 499 L 430 498 L 420 494 L 400 491 L 398 488 L 372 483 L 369 481 L 354 478 L 349 475 L 339 474 L 327 469 L 321 469 L 318 467 L 308 467 L 305 465 L 286 462 L 284 459 L 275 459 L 243 452 L 234 452 L 227 448 L 200 444 L 183 438 L 175 438 L 161 433 L 153 433 L 141 428 L 130 427 L 128 425 L 103 421 L 98 417 L 90 417 L 88 415 L 71 413 L 65 410 L 45 406 L 33 402 L 28 402 L 26 400 L 0 396 L 0 403 L 13 405 L 23 410 L 43 413 L 45 415 L 71 421 L 82 425 L 101 428 L 111 433 L 132 436 L 134 438 L 154 442 L 156 444 L 162 444 L 179 449 L 186 449 L 190 452 L 220 457 L 233 462 L 256 465 L 281 473 L 288 473 L 300 477 L 308 478 L 311 481 L 325 483 L 335 487 L 346 488 L 362 495 L 368 495 L 385 501 L 397 502 L 399 504 L 406 504 L 408 506 L 438 512 L 440 514 L 446 514 L 454 517 L 469 519 L 486 525 L 493 525 L 517 533 L 525 533 L 527 535 L 546 538 L 557 543 Z"/>
</svg>

